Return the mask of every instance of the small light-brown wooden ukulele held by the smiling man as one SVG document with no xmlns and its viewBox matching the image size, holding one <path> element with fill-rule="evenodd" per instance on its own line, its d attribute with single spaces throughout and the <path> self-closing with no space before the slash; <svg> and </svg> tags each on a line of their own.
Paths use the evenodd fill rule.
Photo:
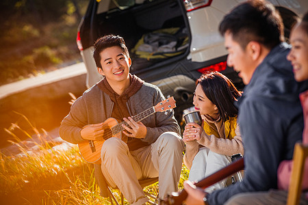
<svg viewBox="0 0 308 205">
<path fill-rule="evenodd" d="M 141 113 L 131 116 L 133 120 L 136 122 L 140 122 L 141 120 L 153 115 L 156 112 L 165 112 L 168 109 L 173 109 L 177 107 L 175 105 L 175 99 L 173 97 L 167 98 L 162 102 L 157 103 L 157 105 L 142 111 Z M 109 139 L 110 137 L 117 137 L 122 139 L 122 131 L 125 130 L 122 124 L 129 126 L 127 122 L 123 121 L 118 123 L 118 120 L 114 118 L 108 118 L 103 122 L 104 133 L 101 137 L 101 140 L 85 140 L 81 143 L 78 143 L 79 152 L 81 156 L 88 162 L 88 163 L 101 163 L 101 148 L 105 140 Z M 123 137 L 123 141 L 127 142 L 127 137 Z"/>
</svg>

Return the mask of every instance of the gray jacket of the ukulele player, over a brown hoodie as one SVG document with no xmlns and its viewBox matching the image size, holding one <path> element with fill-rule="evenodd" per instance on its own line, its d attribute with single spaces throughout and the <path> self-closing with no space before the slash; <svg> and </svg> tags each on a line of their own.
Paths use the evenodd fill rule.
<svg viewBox="0 0 308 205">
<path fill-rule="evenodd" d="M 136 115 L 157 105 L 162 98 L 164 96 L 157 86 L 144 83 L 140 90 L 129 98 L 127 107 L 131 115 Z M 113 105 L 114 102 L 110 100 L 110 97 L 94 85 L 75 100 L 70 113 L 62 121 L 60 136 L 70 143 L 80 143 L 83 141 L 80 135 L 81 129 L 88 124 L 97 124 L 110 118 Z M 160 112 L 155 113 L 141 122 L 147 129 L 146 137 L 142 140 L 149 143 L 155 142 L 157 137 L 166 131 L 180 132 L 173 111 L 168 111 L 167 115 Z"/>
</svg>

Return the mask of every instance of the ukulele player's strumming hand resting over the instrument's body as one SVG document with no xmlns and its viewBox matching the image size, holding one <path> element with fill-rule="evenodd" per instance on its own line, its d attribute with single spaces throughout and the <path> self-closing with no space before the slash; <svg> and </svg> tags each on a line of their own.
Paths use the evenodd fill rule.
<svg viewBox="0 0 308 205">
<path fill-rule="evenodd" d="M 98 124 L 88 124 L 81 129 L 80 135 L 83 139 L 101 140 L 104 134 L 103 122 Z"/>
</svg>

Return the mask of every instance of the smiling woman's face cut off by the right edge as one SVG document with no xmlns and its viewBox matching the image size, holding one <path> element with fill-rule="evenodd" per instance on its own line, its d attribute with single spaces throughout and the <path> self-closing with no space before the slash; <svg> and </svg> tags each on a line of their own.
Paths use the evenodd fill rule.
<svg viewBox="0 0 308 205">
<path fill-rule="evenodd" d="M 303 24 L 306 24 L 305 26 Z M 292 49 L 287 55 L 293 66 L 294 78 L 296 81 L 308 79 L 308 25 L 300 23 L 291 31 L 290 42 Z"/>
</svg>

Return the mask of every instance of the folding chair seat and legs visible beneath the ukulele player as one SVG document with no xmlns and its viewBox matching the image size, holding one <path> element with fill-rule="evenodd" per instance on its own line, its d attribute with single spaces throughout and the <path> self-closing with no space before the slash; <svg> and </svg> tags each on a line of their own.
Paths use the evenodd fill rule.
<svg viewBox="0 0 308 205">
<path fill-rule="evenodd" d="M 158 177 L 139 180 L 139 184 L 142 187 L 142 189 L 144 189 L 144 187 L 147 187 L 147 186 L 154 184 L 156 182 L 158 182 Z M 119 205 L 118 201 L 116 200 L 116 197 L 114 197 L 114 194 L 110 190 L 110 187 L 107 187 L 107 189 L 110 193 L 110 203 L 111 204 L 115 203 L 116 205 Z M 118 189 L 118 188 L 116 187 L 115 189 Z M 155 195 L 152 195 L 151 193 L 147 193 L 145 191 L 144 191 L 144 194 L 154 200 L 154 202 L 149 201 L 148 202 L 149 204 L 153 204 L 153 205 L 158 204 L 158 200 L 159 200 L 158 194 L 155 196 Z M 120 192 L 120 199 L 121 199 L 121 205 L 123 205 L 124 204 L 124 196 L 123 196 L 123 193 L 121 193 L 121 192 Z M 114 203 L 113 203 L 112 200 L 114 201 Z"/>
</svg>

